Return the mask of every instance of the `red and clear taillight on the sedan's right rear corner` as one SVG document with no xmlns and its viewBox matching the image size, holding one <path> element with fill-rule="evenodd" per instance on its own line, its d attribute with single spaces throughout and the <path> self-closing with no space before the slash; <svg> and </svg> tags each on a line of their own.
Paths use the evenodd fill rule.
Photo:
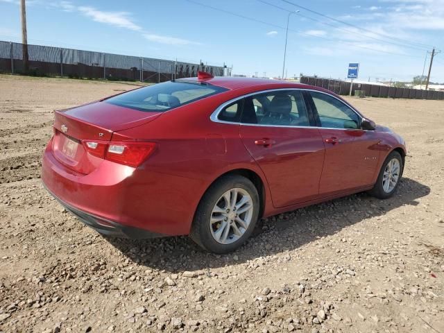
<svg viewBox="0 0 444 333">
<path fill-rule="evenodd" d="M 88 153 L 112 162 L 138 167 L 154 152 L 153 142 L 83 141 Z"/>
</svg>

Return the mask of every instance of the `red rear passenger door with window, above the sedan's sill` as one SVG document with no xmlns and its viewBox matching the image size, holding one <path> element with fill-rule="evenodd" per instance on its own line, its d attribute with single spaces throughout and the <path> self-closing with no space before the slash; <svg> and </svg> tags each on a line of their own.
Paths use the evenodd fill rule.
<svg viewBox="0 0 444 333">
<path fill-rule="evenodd" d="M 244 99 L 240 135 L 264 171 L 275 207 L 318 196 L 324 145 L 311 128 L 298 89 L 273 90 Z"/>
</svg>

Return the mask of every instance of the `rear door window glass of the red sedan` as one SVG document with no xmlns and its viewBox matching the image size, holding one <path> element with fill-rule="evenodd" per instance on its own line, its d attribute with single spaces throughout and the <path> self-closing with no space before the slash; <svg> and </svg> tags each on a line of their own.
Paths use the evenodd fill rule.
<svg viewBox="0 0 444 333">
<path fill-rule="evenodd" d="M 309 126 L 307 109 L 299 90 L 266 92 L 247 97 L 241 121 L 270 126 Z"/>
</svg>

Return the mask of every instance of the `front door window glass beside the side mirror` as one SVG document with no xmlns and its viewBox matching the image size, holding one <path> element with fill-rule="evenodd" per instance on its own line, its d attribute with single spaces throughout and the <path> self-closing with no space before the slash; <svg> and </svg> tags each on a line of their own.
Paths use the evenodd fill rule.
<svg viewBox="0 0 444 333">
<path fill-rule="evenodd" d="M 318 111 L 321 127 L 326 128 L 359 128 L 359 116 L 339 99 L 321 92 L 310 92 Z"/>
</svg>

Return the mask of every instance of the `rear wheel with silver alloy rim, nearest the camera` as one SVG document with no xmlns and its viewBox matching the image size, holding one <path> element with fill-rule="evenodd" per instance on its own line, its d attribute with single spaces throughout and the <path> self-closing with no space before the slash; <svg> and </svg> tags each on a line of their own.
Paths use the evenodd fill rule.
<svg viewBox="0 0 444 333">
<path fill-rule="evenodd" d="M 234 205 L 233 200 L 236 200 Z M 204 250 L 230 253 L 250 237 L 259 206 L 259 194 L 253 182 L 238 175 L 223 176 L 200 200 L 189 237 Z M 237 214 L 237 211 L 242 212 Z"/>
</svg>

